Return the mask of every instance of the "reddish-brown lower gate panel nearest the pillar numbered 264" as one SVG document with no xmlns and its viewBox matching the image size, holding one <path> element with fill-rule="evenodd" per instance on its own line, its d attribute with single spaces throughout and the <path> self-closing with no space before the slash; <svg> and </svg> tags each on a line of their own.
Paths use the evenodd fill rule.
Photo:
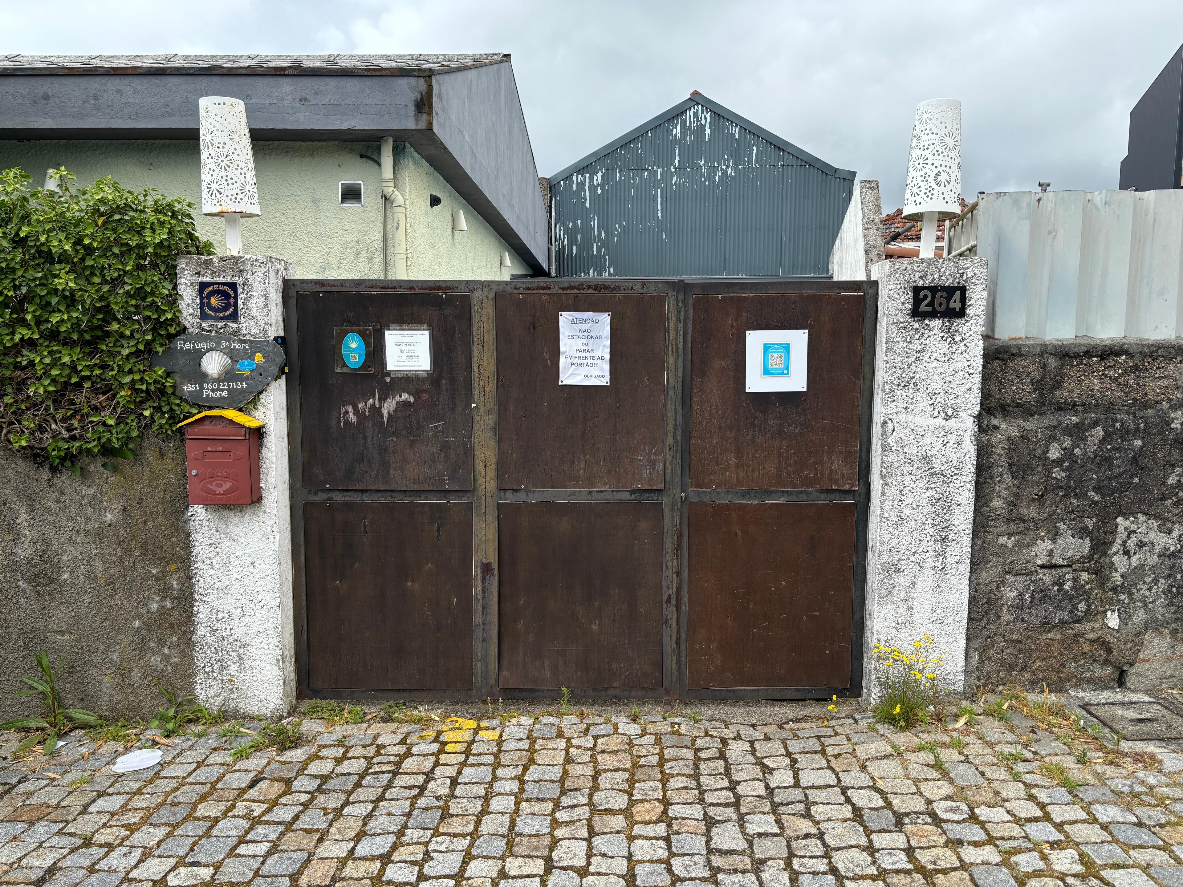
<svg viewBox="0 0 1183 887">
<path fill-rule="evenodd" d="M 853 501 L 690 505 L 690 688 L 851 685 L 855 514 Z"/>
</svg>

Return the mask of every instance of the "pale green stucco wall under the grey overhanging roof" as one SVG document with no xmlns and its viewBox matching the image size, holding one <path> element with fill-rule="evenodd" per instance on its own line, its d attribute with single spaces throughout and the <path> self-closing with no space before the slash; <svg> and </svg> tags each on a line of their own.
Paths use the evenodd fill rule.
<svg viewBox="0 0 1183 887">
<path fill-rule="evenodd" d="M 256 142 L 254 167 L 263 215 L 243 220 L 243 252 L 278 255 L 297 277 L 382 276 L 381 170 L 377 142 Z M 127 188 L 156 188 L 201 202 L 196 141 L 0 142 L 0 169 L 20 167 L 40 186 L 49 168 L 65 167 L 82 184 L 103 176 Z M 338 202 L 338 182 L 364 183 L 364 206 Z M 435 169 L 405 144 L 395 145 L 395 183 L 407 199 L 409 276 L 419 279 L 509 279 L 530 268 Z M 442 202 L 432 208 L 429 195 Z M 538 198 L 542 200 L 542 198 Z M 464 209 L 466 232 L 452 231 Z M 222 222 L 195 212 L 198 232 L 219 251 Z M 500 266 L 510 252 L 512 267 Z"/>
</svg>

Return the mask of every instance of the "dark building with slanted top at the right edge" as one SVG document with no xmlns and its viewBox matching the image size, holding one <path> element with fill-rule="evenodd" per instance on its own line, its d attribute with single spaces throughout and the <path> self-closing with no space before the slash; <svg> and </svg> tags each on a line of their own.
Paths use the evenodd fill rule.
<svg viewBox="0 0 1183 887">
<path fill-rule="evenodd" d="M 1121 190 L 1158 190 L 1183 183 L 1183 46 L 1130 111 L 1130 145 Z"/>
</svg>

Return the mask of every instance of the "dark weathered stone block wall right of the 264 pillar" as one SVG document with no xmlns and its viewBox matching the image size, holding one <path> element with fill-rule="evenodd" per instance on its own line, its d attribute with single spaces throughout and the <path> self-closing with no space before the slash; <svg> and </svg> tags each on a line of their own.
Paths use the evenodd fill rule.
<svg viewBox="0 0 1183 887">
<path fill-rule="evenodd" d="M 985 343 L 967 685 L 1183 684 L 1183 342 Z"/>
</svg>

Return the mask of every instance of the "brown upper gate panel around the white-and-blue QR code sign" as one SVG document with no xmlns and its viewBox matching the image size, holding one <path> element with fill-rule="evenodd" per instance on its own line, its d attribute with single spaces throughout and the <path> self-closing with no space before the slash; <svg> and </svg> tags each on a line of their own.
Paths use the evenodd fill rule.
<svg viewBox="0 0 1183 887">
<path fill-rule="evenodd" d="M 698 294 L 691 332 L 690 486 L 859 485 L 865 296 Z M 807 391 L 744 390 L 748 330 L 809 330 Z"/>
</svg>

